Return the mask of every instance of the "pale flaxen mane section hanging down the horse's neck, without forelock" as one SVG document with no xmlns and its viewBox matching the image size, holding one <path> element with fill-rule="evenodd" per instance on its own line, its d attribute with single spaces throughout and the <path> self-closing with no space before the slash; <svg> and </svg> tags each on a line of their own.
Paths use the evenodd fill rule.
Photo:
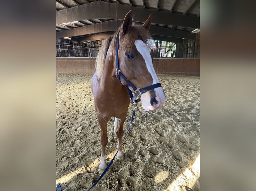
<svg viewBox="0 0 256 191">
<path fill-rule="evenodd" d="M 101 76 L 103 72 L 103 64 L 105 63 L 105 59 L 107 56 L 107 52 L 110 46 L 110 43 L 112 41 L 113 36 L 109 36 L 106 40 L 104 45 L 100 48 L 98 56 L 96 58 L 96 64 L 95 64 L 95 70 L 98 73 L 98 75 Z"/>
</svg>

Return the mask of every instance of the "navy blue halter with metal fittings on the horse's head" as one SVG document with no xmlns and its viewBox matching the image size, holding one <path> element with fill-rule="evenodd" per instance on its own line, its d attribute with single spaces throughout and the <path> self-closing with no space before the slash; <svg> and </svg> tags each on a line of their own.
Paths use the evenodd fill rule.
<svg viewBox="0 0 256 191">
<path fill-rule="evenodd" d="M 120 77 L 125 81 L 127 82 L 133 89 L 134 91 L 134 95 L 132 94 L 132 91 L 127 87 L 125 86 L 125 88 L 127 89 L 129 95 L 130 95 L 130 98 L 131 98 L 131 104 L 133 104 L 133 102 L 135 101 L 136 103 L 138 103 L 140 101 L 140 98 L 136 99 L 138 96 L 140 96 L 141 94 L 149 91 L 149 90 L 153 90 L 155 88 L 159 88 L 159 87 L 162 87 L 160 83 L 157 83 L 157 84 L 153 84 L 153 85 L 150 85 L 150 86 L 147 86 L 145 88 L 137 88 L 135 87 L 123 74 L 122 72 L 120 71 L 119 69 L 119 61 L 118 61 L 118 44 L 119 44 L 119 34 L 117 34 L 117 38 L 116 38 L 116 75 L 117 75 L 117 79 L 118 81 L 121 83 L 120 81 Z M 122 84 L 123 85 L 123 84 Z M 123 85 L 124 86 L 124 85 Z M 136 100 L 135 100 L 136 99 Z"/>
</svg>

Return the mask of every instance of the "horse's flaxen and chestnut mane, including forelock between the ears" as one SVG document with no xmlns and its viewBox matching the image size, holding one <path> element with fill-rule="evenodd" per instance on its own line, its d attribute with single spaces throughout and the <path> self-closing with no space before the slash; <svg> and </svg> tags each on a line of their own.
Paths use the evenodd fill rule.
<svg viewBox="0 0 256 191">
<path fill-rule="evenodd" d="M 98 77 L 100 77 L 103 74 L 103 68 L 108 50 L 110 51 L 110 53 L 112 53 L 109 54 L 109 60 L 112 60 L 114 58 L 116 52 L 116 37 L 121 30 L 122 27 L 120 27 L 113 35 L 109 36 L 105 40 L 104 45 L 99 50 L 95 65 Z M 140 39 L 144 43 L 147 43 L 147 40 L 152 39 L 152 37 L 144 27 L 133 24 L 131 28 L 123 36 L 123 43 L 119 44 L 119 47 L 129 50 L 130 47 L 132 47 L 132 43 L 134 43 L 134 41 L 137 39 Z"/>
</svg>

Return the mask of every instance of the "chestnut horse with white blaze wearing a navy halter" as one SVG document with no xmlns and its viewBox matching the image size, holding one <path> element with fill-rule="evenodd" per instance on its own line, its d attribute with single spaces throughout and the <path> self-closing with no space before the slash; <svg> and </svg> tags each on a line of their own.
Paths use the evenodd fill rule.
<svg viewBox="0 0 256 191">
<path fill-rule="evenodd" d="M 118 137 L 119 148 L 132 93 L 140 98 L 142 107 L 147 111 L 159 108 L 165 101 L 165 94 L 153 68 L 153 51 L 146 44 L 151 39 L 148 33 L 150 25 L 151 15 L 143 25 L 132 25 L 132 10 L 129 11 L 122 27 L 106 39 L 97 56 L 91 91 L 101 128 L 99 172 L 106 168 L 107 122 L 115 117 L 114 132 Z M 142 89 L 144 91 L 140 92 Z M 117 157 L 124 158 L 122 146 Z"/>
</svg>

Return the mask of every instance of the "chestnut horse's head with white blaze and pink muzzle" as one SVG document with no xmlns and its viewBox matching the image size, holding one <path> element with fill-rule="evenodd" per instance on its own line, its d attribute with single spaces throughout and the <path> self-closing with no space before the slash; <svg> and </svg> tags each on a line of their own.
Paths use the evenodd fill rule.
<svg viewBox="0 0 256 191">
<path fill-rule="evenodd" d="M 132 25 L 132 11 L 129 11 L 118 33 L 120 71 L 138 88 L 159 83 L 153 67 L 153 51 L 146 44 L 151 38 L 148 33 L 150 25 L 151 15 L 142 26 Z M 121 82 L 132 90 L 123 79 Z M 166 97 L 163 89 L 158 87 L 141 94 L 140 99 L 145 110 L 155 110 L 164 103 Z"/>
</svg>

